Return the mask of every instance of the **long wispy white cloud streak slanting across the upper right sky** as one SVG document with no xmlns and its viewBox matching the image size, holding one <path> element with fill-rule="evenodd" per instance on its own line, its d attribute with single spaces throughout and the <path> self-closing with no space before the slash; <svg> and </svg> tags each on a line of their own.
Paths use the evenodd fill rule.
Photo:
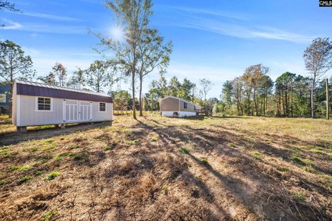
<svg viewBox="0 0 332 221">
<path fill-rule="evenodd" d="M 163 6 L 163 8 L 172 9 L 172 12 L 178 11 L 176 19 L 174 19 L 174 15 L 169 17 L 165 15 L 171 26 L 204 30 L 245 39 L 276 39 L 308 43 L 314 38 L 278 28 L 259 26 L 257 23 L 252 24 L 253 17 L 243 13 L 175 6 Z"/>
</svg>

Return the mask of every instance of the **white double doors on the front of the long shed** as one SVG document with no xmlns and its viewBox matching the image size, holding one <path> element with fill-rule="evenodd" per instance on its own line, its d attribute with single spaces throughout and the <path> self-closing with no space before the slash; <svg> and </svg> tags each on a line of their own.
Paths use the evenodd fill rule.
<svg viewBox="0 0 332 221">
<path fill-rule="evenodd" d="M 64 122 L 89 122 L 92 120 L 92 102 L 64 99 Z"/>
</svg>

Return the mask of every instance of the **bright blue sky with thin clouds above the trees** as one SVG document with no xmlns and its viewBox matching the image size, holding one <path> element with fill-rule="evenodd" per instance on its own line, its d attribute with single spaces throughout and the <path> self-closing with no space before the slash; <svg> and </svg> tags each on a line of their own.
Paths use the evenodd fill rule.
<svg viewBox="0 0 332 221">
<path fill-rule="evenodd" d="M 0 12 L 6 23 L 0 37 L 21 45 L 39 75 L 57 61 L 71 73 L 100 59 L 92 50 L 98 40 L 87 30 L 108 34 L 117 23 L 99 0 L 14 2 L 23 13 Z M 166 77 L 211 79 L 209 97 L 219 97 L 223 82 L 252 64 L 268 66 L 273 79 L 286 71 L 306 75 L 303 51 L 315 37 L 332 37 L 331 20 L 332 8 L 315 0 L 158 0 L 151 26 L 174 44 Z M 145 79 L 145 91 L 156 78 Z"/>
</svg>

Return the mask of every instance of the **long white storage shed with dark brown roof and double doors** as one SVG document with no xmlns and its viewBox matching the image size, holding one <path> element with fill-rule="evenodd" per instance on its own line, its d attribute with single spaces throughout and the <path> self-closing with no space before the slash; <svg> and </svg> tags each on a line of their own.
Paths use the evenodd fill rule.
<svg viewBox="0 0 332 221">
<path fill-rule="evenodd" d="M 109 95 L 16 80 L 12 91 L 12 123 L 17 131 L 26 126 L 64 125 L 113 120 Z"/>
</svg>

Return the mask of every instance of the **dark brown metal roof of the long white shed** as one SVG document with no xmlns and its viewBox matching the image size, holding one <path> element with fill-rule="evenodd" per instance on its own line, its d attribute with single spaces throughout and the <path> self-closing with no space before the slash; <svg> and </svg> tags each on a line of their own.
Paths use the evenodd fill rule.
<svg viewBox="0 0 332 221">
<path fill-rule="evenodd" d="M 22 80 L 16 80 L 16 83 L 17 95 L 30 95 L 36 97 L 54 97 L 60 99 L 78 99 L 89 102 L 113 103 L 113 100 L 109 95 L 95 93 L 88 90 L 77 90 L 73 88 L 66 88 L 50 84 L 42 84 Z"/>
</svg>

